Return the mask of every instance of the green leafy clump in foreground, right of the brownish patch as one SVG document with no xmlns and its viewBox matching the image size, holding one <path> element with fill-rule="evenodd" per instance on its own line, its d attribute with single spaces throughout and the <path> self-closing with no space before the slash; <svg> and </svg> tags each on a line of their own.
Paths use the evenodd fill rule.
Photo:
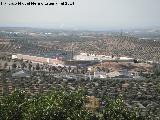
<svg viewBox="0 0 160 120">
<path fill-rule="evenodd" d="M 122 97 L 116 100 L 106 98 L 105 101 L 107 102 L 103 111 L 105 120 L 143 120 L 137 114 L 138 109 L 127 107 Z"/>
</svg>

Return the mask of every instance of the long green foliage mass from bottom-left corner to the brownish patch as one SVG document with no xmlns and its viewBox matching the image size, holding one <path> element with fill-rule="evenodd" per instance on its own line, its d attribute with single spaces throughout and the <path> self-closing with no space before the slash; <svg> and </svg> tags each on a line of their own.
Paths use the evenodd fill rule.
<svg viewBox="0 0 160 120">
<path fill-rule="evenodd" d="M 85 95 L 81 90 L 66 92 L 53 89 L 47 94 L 32 97 L 15 91 L 11 96 L 0 100 L 0 120 L 87 120 Z"/>
</svg>

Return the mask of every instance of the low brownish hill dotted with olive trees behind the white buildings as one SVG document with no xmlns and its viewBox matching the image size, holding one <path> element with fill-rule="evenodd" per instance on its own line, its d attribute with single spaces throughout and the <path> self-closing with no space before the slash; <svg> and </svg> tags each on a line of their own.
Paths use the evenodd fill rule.
<svg viewBox="0 0 160 120">
<path fill-rule="evenodd" d="M 106 37 L 102 40 L 84 42 L 79 48 L 92 51 L 97 54 L 130 56 L 143 60 L 156 60 L 160 58 L 160 41 L 142 40 L 135 37 Z"/>
</svg>

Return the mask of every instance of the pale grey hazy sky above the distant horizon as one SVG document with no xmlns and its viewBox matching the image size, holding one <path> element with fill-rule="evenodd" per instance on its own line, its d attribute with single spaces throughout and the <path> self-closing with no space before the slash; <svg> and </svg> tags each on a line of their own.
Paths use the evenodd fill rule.
<svg viewBox="0 0 160 120">
<path fill-rule="evenodd" d="M 18 0 L 0 0 L 16 2 Z M 31 0 L 19 0 L 31 1 Z M 63 0 L 32 0 L 62 2 Z M 0 6 L 0 26 L 114 29 L 160 26 L 160 0 L 64 0 L 74 6 Z"/>
</svg>

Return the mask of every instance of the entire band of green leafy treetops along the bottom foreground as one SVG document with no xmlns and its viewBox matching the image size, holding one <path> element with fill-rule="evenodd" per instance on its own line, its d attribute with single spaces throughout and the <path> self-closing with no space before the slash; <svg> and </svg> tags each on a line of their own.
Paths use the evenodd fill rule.
<svg viewBox="0 0 160 120">
<path fill-rule="evenodd" d="M 16 90 L 0 99 L 0 120 L 143 120 L 138 109 L 129 109 L 122 98 L 104 98 L 103 109 L 89 111 L 83 90 L 51 92 L 30 96 Z"/>
</svg>

